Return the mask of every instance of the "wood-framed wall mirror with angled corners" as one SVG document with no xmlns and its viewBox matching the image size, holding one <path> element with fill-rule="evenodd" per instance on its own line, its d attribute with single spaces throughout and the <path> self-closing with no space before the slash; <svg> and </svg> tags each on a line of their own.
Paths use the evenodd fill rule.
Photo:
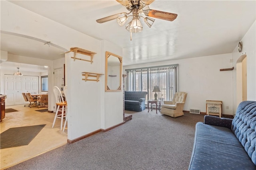
<svg viewBox="0 0 256 170">
<path fill-rule="evenodd" d="M 105 91 L 120 92 L 122 81 L 122 57 L 106 51 Z"/>
</svg>

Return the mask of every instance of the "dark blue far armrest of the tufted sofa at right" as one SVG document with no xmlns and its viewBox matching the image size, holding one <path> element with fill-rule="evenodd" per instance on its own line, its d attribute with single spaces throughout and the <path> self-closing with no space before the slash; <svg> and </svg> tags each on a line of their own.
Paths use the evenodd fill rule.
<svg viewBox="0 0 256 170">
<path fill-rule="evenodd" d="M 205 115 L 204 124 L 231 128 L 233 119 Z"/>
</svg>

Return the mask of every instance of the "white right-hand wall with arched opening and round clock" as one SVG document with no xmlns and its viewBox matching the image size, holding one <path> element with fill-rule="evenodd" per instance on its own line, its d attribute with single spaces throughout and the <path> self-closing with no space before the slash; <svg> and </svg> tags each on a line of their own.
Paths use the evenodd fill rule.
<svg viewBox="0 0 256 170">
<path fill-rule="evenodd" d="M 237 101 L 236 99 L 236 62 L 242 55 L 246 55 L 247 57 L 247 100 L 253 100 L 256 101 L 256 23 L 252 24 L 250 29 L 247 31 L 247 33 L 244 35 L 244 37 L 241 39 L 243 48 L 242 52 L 238 52 L 238 45 L 234 48 L 232 52 L 232 58 L 233 58 L 233 66 L 235 67 L 233 71 L 233 109 L 235 110 L 237 107 L 237 104 L 239 104 L 242 101 Z M 239 80 L 240 81 L 240 80 Z"/>
</svg>

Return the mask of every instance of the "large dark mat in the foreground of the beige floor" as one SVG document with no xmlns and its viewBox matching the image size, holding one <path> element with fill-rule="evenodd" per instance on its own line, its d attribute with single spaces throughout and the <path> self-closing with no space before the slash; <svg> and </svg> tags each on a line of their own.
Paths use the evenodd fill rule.
<svg viewBox="0 0 256 170">
<path fill-rule="evenodd" d="M 0 134 L 0 149 L 28 145 L 45 125 L 10 128 Z"/>
</svg>

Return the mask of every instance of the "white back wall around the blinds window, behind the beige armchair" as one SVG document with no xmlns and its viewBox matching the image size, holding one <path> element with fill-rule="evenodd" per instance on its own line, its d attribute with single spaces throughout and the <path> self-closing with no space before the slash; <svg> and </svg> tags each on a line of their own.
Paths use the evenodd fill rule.
<svg viewBox="0 0 256 170">
<path fill-rule="evenodd" d="M 147 66 L 179 64 L 178 90 L 187 92 L 184 110 L 200 109 L 206 112 L 206 100 L 221 100 L 223 114 L 232 115 L 232 71 L 220 71 L 221 68 L 231 68 L 232 54 L 213 55 L 165 61 L 151 64 L 124 66 L 125 69 Z M 229 109 L 226 109 L 228 106 Z"/>
</svg>

